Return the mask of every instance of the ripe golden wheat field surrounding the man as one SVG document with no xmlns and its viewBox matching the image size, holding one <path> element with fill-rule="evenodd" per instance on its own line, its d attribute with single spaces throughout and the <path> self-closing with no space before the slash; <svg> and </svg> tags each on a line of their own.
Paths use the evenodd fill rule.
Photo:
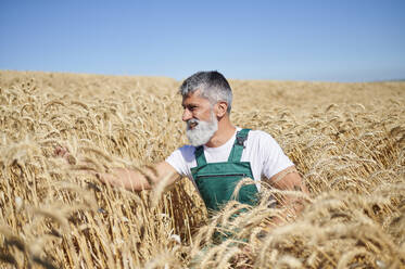
<svg viewBox="0 0 405 269">
<path fill-rule="evenodd" d="M 212 219 L 187 179 L 132 193 L 79 165 L 153 169 L 186 144 L 179 85 L 0 72 L 1 268 L 405 268 L 405 82 L 230 80 L 231 120 L 270 133 L 311 195 L 283 215 L 264 182 Z"/>
</svg>

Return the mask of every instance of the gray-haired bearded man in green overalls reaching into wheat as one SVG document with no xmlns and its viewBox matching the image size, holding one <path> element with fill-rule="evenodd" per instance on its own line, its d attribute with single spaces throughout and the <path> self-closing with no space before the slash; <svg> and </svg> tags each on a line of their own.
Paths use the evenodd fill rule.
<svg viewBox="0 0 405 269">
<path fill-rule="evenodd" d="M 153 182 L 139 171 L 125 168 L 98 174 L 101 181 L 141 191 L 163 179 L 172 184 L 179 175 L 187 176 L 211 213 L 218 212 L 232 198 L 254 205 L 263 177 L 280 190 L 307 193 L 293 163 L 270 134 L 232 125 L 229 118 L 232 91 L 222 74 L 199 72 L 182 82 L 180 93 L 190 145 L 177 149 L 156 164 L 157 176 L 151 177 Z M 238 195 L 233 195 L 238 182 L 246 177 L 257 184 L 243 185 Z M 284 202 L 289 204 L 291 198 L 286 197 Z"/>
</svg>

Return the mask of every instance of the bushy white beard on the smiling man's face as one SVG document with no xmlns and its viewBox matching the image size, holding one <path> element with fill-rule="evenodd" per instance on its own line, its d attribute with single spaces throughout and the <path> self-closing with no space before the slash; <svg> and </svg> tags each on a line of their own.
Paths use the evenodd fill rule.
<svg viewBox="0 0 405 269">
<path fill-rule="evenodd" d="M 191 124 L 197 124 L 193 129 L 190 129 Z M 218 119 L 214 112 L 211 112 L 211 121 L 199 120 L 191 118 L 187 120 L 186 136 L 193 146 L 206 144 L 214 133 L 218 130 Z"/>
</svg>

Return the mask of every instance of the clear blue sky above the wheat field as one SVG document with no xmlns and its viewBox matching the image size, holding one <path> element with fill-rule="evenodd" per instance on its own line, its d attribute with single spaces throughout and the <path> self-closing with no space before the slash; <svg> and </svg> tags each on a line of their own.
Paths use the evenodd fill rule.
<svg viewBox="0 0 405 269">
<path fill-rule="evenodd" d="M 0 69 L 405 78 L 405 1 L 0 1 Z"/>
</svg>

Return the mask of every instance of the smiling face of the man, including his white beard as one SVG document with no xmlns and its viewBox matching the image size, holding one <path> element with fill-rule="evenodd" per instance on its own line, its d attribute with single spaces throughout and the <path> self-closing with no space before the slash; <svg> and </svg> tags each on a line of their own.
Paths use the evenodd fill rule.
<svg viewBox="0 0 405 269">
<path fill-rule="evenodd" d="M 182 99 L 182 120 L 187 124 L 186 134 L 194 146 L 210 141 L 218 129 L 218 120 L 210 101 L 194 91 Z"/>
</svg>

